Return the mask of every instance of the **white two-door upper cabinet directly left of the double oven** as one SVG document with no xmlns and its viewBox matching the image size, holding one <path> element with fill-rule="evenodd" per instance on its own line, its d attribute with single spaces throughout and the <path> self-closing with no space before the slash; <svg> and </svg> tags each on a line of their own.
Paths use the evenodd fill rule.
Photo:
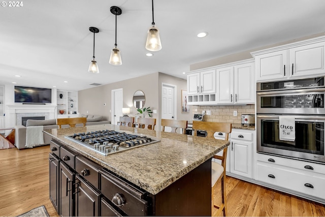
<svg viewBox="0 0 325 217">
<path fill-rule="evenodd" d="M 217 69 L 217 104 L 255 102 L 254 62 Z"/>
</svg>

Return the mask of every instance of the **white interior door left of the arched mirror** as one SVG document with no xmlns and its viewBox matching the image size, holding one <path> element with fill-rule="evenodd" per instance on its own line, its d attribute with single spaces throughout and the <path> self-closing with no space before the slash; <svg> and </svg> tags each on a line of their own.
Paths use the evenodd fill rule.
<svg viewBox="0 0 325 217">
<path fill-rule="evenodd" d="M 120 120 L 123 107 L 123 89 L 113 89 L 112 90 L 112 124 L 117 125 Z"/>
</svg>

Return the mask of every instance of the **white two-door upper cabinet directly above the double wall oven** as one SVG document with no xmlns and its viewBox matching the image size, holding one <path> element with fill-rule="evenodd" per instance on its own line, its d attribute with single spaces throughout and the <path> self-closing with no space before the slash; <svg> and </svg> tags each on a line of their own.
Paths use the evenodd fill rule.
<svg viewBox="0 0 325 217">
<path fill-rule="evenodd" d="M 256 81 L 272 81 L 325 73 L 325 37 L 252 52 Z"/>
</svg>

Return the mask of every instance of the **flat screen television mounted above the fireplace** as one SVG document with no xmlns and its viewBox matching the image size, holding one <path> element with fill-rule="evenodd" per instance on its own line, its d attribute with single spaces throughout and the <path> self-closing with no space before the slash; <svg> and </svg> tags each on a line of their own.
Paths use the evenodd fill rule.
<svg viewBox="0 0 325 217">
<path fill-rule="evenodd" d="M 52 89 L 15 86 L 15 103 L 52 103 Z"/>
</svg>

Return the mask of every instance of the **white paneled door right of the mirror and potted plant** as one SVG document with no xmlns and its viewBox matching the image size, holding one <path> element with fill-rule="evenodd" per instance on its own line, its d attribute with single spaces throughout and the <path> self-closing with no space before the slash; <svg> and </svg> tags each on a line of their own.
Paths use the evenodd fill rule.
<svg viewBox="0 0 325 217">
<path fill-rule="evenodd" d="M 161 84 L 161 119 L 176 119 L 176 86 L 172 84 Z M 171 128 L 165 128 L 170 132 Z"/>
</svg>

